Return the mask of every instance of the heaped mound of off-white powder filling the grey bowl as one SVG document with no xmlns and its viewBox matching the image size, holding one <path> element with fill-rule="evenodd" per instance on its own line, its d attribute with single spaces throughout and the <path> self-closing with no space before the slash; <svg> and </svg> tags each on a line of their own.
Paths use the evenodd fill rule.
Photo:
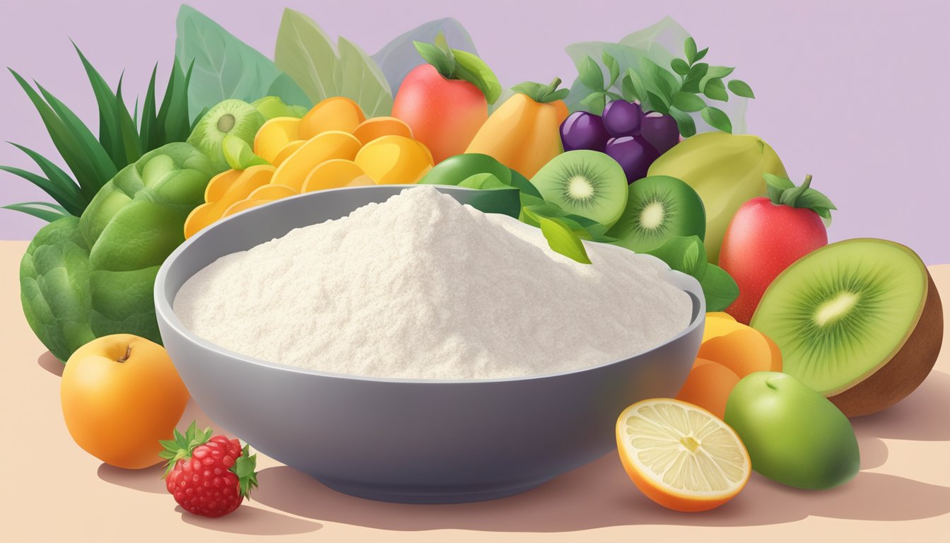
<svg viewBox="0 0 950 543">
<path fill-rule="evenodd" d="M 510 378 L 622 359 L 689 325 L 651 257 L 533 226 L 433 187 L 218 259 L 180 289 L 200 338 L 257 359 L 384 378 Z"/>
</svg>

